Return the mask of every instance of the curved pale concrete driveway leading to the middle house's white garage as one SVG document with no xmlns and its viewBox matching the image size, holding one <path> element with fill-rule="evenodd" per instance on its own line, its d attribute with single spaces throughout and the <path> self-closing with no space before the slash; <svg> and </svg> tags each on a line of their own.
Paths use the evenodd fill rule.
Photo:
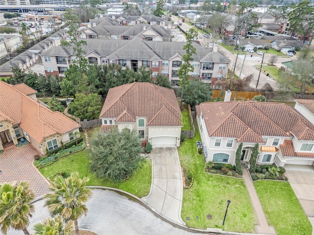
<svg viewBox="0 0 314 235">
<path fill-rule="evenodd" d="M 184 224 L 181 218 L 183 179 L 176 146 L 155 147 L 151 152 L 152 185 L 142 199 L 167 218 Z"/>
</svg>

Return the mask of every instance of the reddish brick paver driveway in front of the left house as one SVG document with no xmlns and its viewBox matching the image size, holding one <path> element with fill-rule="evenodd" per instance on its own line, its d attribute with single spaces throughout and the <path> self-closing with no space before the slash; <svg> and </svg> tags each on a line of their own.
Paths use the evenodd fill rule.
<svg viewBox="0 0 314 235">
<path fill-rule="evenodd" d="M 12 146 L 0 154 L 0 183 L 27 181 L 35 192 L 35 197 L 49 192 L 47 180 L 32 164 L 38 152 L 31 144 L 22 147 Z"/>
</svg>

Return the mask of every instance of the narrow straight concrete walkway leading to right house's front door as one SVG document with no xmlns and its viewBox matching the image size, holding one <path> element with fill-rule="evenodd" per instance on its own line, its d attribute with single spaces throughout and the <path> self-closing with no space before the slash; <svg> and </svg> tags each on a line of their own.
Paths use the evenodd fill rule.
<svg viewBox="0 0 314 235">
<path fill-rule="evenodd" d="M 258 234 L 275 235 L 276 230 L 275 230 L 274 226 L 268 225 L 265 213 L 264 213 L 263 208 L 262 208 L 262 204 L 261 204 L 260 199 L 257 195 L 257 192 L 254 188 L 249 170 L 243 166 L 242 166 L 242 170 L 243 170 L 243 180 L 244 180 L 244 183 L 245 183 L 247 190 L 249 191 L 252 206 L 254 208 L 254 212 L 255 212 L 257 220 L 258 220 L 258 224 L 255 225 L 256 232 Z"/>
</svg>

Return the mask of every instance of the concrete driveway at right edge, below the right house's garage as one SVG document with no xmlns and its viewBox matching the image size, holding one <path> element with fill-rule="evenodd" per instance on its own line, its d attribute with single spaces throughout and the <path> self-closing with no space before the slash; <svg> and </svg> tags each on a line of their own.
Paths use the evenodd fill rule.
<svg viewBox="0 0 314 235">
<path fill-rule="evenodd" d="M 288 181 L 314 228 L 314 169 L 312 166 L 285 165 Z M 314 229 L 312 230 L 314 235 Z"/>
</svg>

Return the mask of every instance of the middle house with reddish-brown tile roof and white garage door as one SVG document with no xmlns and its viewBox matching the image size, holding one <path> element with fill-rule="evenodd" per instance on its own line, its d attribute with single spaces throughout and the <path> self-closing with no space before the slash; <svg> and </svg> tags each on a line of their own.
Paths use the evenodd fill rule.
<svg viewBox="0 0 314 235">
<path fill-rule="evenodd" d="M 102 112 L 101 132 L 115 127 L 135 130 L 141 141 L 180 146 L 182 115 L 172 89 L 134 82 L 109 89 Z"/>
</svg>

